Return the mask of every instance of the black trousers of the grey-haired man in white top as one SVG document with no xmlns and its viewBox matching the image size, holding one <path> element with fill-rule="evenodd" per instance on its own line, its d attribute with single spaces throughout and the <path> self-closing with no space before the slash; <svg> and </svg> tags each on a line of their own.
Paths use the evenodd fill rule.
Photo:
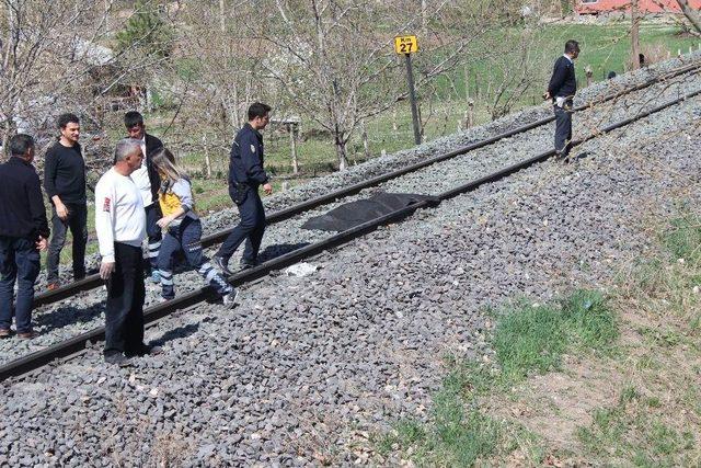
<svg viewBox="0 0 701 468">
<path fill-rule="evenodd" d="M 105 355 L 129 353 L 143 343 L 143 259 L 140 247 L 114 243 L 115 271 L 107 281 Z"/>
</svg>

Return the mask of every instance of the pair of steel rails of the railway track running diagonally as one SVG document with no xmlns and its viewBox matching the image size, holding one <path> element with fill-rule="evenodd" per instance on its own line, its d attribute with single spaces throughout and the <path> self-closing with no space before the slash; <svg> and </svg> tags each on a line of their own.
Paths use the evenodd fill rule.
<svg viewBox="0 0 701 468">
<path fill-rule="evenodd" d="M 694 65 L 694 66 L 689 66 L 689 67 L 685 67 L 683 69 L 679 69 L 675 71 L 675 76 L 679 76 L 679 75 L 683 75 L 690 71 L 698 71 L 699 66 Z M 683 70 L 683 71 L 680 71 Z M 669 79 L 669 75 L 666 76 L 665 79 Z M 655 82 L 659 82 L 662 79 L 657 78 L 655 79 Z M 652 81 L 652 80 L 651 80 Z M 647 83 L 647 82 L 646 82 Z M 647 84 L 650 85 L 650 84 Z M 636 87 L 634 87 L 635 89 L 643 89 L 645 87 L 643 87 L 642 84 L 639 84 Z M 623 95 L 625 93 L 630 93 L 631 90 L 625 90 L 622 91 L 621 93 L 617 93 L 618 96 Z M 679 104 L 686 100 L 692 99 L 698 96 L 699 94 L 701 94 L 701 90 L 688 93 L 686 95 L 682 95 L 678 99 L 674 99 L 670 101 L 667 101 L 660 105 L 657 105 L 653 109 L 650 109 L 647 111 L 644 112 L 640 112 L 634 116 L 624 118 L 622 121 L 619 121 L 614 124 L 610 124 L 606 127 L 599 128 L 596 132 L 590 133 L 589 135 L 587 135 L 586 137 L 575 140 L 573 141 L 574 145 L 579 145 L 584 141 L 590 140 L 593 138 L 596 138 L 600 135 L 610 133 L 614 129 L 624 127 L 631 123 L 634 123 L 636 121 L 640 121 L 642 118 L 645 118 L 656 112 L 663 111 L 667 107 L 674 106 L 676 104 Z M 616 99 L 613 96 L 608 96 L 606 100 L 611 100 L 611 99 Z M 599 101 L 599 102 L 605 102 Z M 577 109 L 577 111 L 582 111 L 584 109 L 588 109 L 594 104 L 588 104 L 585 106 L 581 106 Z M 425 168 L 427 165 L 434 164 L 436 162 L 440 162 L 440 161 L 445 161 L 448 160 L 452 157 L 456 157 L 458 155 L 463 155 L 472 149 L 476 149 L 479 147 L 482 146 L 486 146 L 486 145 L 491 145 L 495 141 L 498 141 L 499 139 L 503 138 L 507 138 L 508 136 L 513 136 L 516 135 L 518 133 L 522 133 L 522 132 L 527 132 L 528 129 L 535 128 L 537 126 L 540 125 L 545 125 L 547 123 L 552 122 L 552 118 L 544 118 L 531 124 L 528 124 L 524 127 L 519 127 L 517 129 L 510 130 L 508 133 L 502 134 L 501 136 L 497 137 L 493 137 L 483 141 L 479 141 L 475 144 L 472 144 L 466 148 L 462 148 L 460 150 L 457 151 L 451 151 L 450 153 L 447 155 L 441 155 L 435 158 L 432 158 L 430 160 L 426 160 L 426 161 L 422 161 L 421 163 L 417 164 L 413 164 L 411 167 L 407 168 L 402 168 L 398 171 L 393 171 L 391 173 L 387 173 L 387 174 L 382 174 L 380 176 L 374 178 L 371 180 L 355 184 L 353 186 L 343 189 L 343 190 L 338 190 L 335 191 L 333 193 L 326 194 L 324 196 L 318 197 L 318 198 L 313 198 L 310 199 L 308 202 L 304 202 L 302 204 L 299 205 L 295 205 L 291 206 L 289 208 L 283 209 L 280 212 L 276 212 L 273 215 L 271 215 L 268 217 L 268 224 L 273 224 L 273 222 L 279 222 L 284 219 L 288 219 L 292 216 L 296 216 L 300 213 L 303 213 L 306 210 L 315 208 L 318 206 L 322 206 L 329 202 L 335 201 L 337 198 L 341 198 L 343 196 L 348 196 L 350 194 L 355 194 L 359 191 L 361 191 L 363 189 L 366 189 L 368 186 L 374 186 L 378 183 L 398 178 L 400 175 L 403 175 L 405 173 L 418 170 L 421 168 Z M 365 222 L 360 226 L 357 226 L 353 229 L 348 229 L 346 231 L 343 232 L 338 232 L 337 235 L 331 236 L 329 238 L 325 238 L 319 242 L 314 242 L 312 244 L 296 249 L 289 253 L 286 253 L 284 255 L 277 256 L 273 260 L 269 260 L 267 262 L 264 262 L 263 264 L 251 269 L 251 270 L 246 270 L 243 272 L 239 272 L 234 275 L 232 275 L 229 281 L 231 282 L 231 284 L 233 284 L 234 286 L 240 286 L 242 284 L 245 283 L 250 283 L 252 281 L 255 281 L 257 278 L 264 277 L 266 275 L 268 275 L 271 272 L 284 269 L 286 266 L 289 266 L 291 264 L 295 264 L 297 262 L 300 262 L 302 260 L 306 260 L 310 256 L 313 256 L 318 253 L 321 253 L 323 251 L 326 251 L 329 249 L 333 249 L 340 246 L 343 246 L 345 243 L 347 243 L 348 241 L 352 241 L 358 237 L 361 237 L 368 232 L 374 231 L 375 229 L 391 224 L 391 222 L 395 222 L 395 221 L 400 221 L 403 218 L 406 218 L 409 216 L 411 216 L 414 212 L 418 210 L 418 209 L 425 209 L 425 208 L 430 208 L 433 206 L 436 206 L 438 204 L 440 204 L 444 201 L 453 198 L 458 195 L 462 195 L 469 192 L 472 192 L 485 184 L 489 183 L 493 183 L 496 182 L 501 179 L 504 179 L 515 172 L 518 172 L 520 170 L 527 169 L 533 164 L 537 164 L 539 162 L 545 161 L 548 158 L 552 157 L 554 155 L 554 150 L 549 150 L 549 151 L 544 151 L 541 152 L 537 156 L 533 156 L 531 158 L 528 158 L 526 160 L 522 160 L 520 162 L 507 165 L 496 172 L 490 173 L 487 175 L 478 178 L 473 181 L 470 181 L 468 183 L 461 184 L 459 186 L 456 186 L 453 189 L 447 190 L 443 193 L 436 194 L 432 199 L 426 199 L 426 201 L 422 201 L 422 202 L 417 202 L 414 203 L 405 208 L 402 209 L 398 209 L 393 213 L 390 213 L 388 215 L 384 215 L 382 217 L 379 217 L 377 219 L 374 219 L 371 221 Z M 411 169 L 410 169 L 411 168 Z M 217 243 L 218 241 L 222 240 L 226 236 L 228 235 L 228 231 L 222 231 L 222 232 L 218 232 L 216 235 L 209 236 L 206 238 L 206 240 L 204 240 L 204 243 L 206 243 L 206 246 L 211 246 Z M 82 283 L 87 283 L 90 278 L 84 279 Z M 73 288 L 76 287 L 81 287 L 78 284 L 71 285 Z M 82 286 L 85 287 L 85 286 Z M 84 289 L 78 289 L 78 290 L 84 290 Z M 58 292 L 54 292 L 54 293 L 58 293 Z M 66 293 L 64 293 L 66 294 Z M 62 298 L 65 297 L 69 297 L 68 296 L 62 296 Z M 168 301 L 168 303 L 162 303 L 159 304 L 154 307 L 150 307 L 148 309 L 145 310 L 145 318 L 146 318 L 146 322 L 150 323 L 150 322 L 154 322 L 163 317 L 166 317 L 171 313 L 173 313 L 174 311 L 177 310 L 183 310 L 186 309 L 188 307 L 192 307 L 198 303 L 202 303 L 204 300 L 207 300 L 209 297 L 211 297 L 211 292 L 209 290 L 209 288 L 205 287 L 205 288 L 199 288 L 196 289 L 194 292 L 184 294 L 182 296 L 176 297 L 175 299 Z M 56 299 L 56 300 L 60 300 L 60 299 Z M 48 303 L 47 303 L 48 304 Z M 34 352 L 32 354 L 28 354 L 26 356 L 23 356 L 21 358 L 14 359 L 5 365 L 3 365 L 2 367 L 0 367 L 0 380 L 5 380 L 8 378 L 11 377 L 19 377 L 19 376 L 23 376 L 27 373 L 31 373 L 44 365 L 47 365 L 56 359 L 60 359 L 60 358 L 67 358 L 67 357 L 71 357 L 74 356 L 76 354 L 79 354 L 82 350 L 84 350 L 90 342 L 96 342 L 104 339 L 104 328 L 100 327 L 100 328 L 95 328 L 87 333 L 82 333 L 80 335 L 77 335 L 70 340 L 54 344 L 51 346 L 48 346 L 44 350 Z"/>
</svg>

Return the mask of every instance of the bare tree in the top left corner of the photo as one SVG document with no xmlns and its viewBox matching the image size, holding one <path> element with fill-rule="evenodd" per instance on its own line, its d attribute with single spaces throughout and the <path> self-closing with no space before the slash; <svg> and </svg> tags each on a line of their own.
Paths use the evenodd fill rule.
<svg viewBox="0 0 701 468">
<path fill-rule="evenodd" d="M 106 47 L 124 26 L 112 21 L 114 7 L 114 0 L 0 1 L 3 142 L 18 127 L 48 136 L 53 118 L 68 110 L 101 127 L 102 98 L 162 60 L 125 60 L 130 48 Z"/>
</svg>

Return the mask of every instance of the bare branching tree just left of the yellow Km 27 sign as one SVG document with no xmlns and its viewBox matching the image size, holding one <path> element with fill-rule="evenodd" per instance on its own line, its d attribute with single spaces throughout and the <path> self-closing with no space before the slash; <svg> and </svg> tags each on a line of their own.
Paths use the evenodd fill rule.
<svg viewBox="0 0 701 468">
<path fill-rule="evenodd" d="M 418 31 L 425 14 L 435 20 L 450 7 L 459 10 L 455 3 L 444 0 L 427 11 L 416 2 L 276 0 L 277 27 L 261 28 L 271 50 L 262 65 L 292 105 L 333 136 L 343 170 L 347 167 L 346 144 L 359 123 L 406 98 L 402 64 L 391 45 L 393 36 Z M 475 18 L 464 10 L 461 13 L 463 19 Z M 378 18 L 383 19 L 388 33 L 378 30 Z M 456 31 L 460 30 L 424 41 L 416 61 L 420 87 L 455 68 L 467 44 L 481 32 L 472 28 L 473 36 L 468 38 Z"/>
</svg>

